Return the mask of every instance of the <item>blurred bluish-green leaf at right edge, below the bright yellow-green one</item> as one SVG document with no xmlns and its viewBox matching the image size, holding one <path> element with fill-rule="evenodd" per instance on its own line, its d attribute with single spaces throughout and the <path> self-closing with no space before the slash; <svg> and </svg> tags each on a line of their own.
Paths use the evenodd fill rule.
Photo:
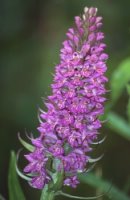
<svg viewBox="0 0 130 200">
<path fill-rule="evenodd" d="M 130 125 L 122 117 L 114 112 L 110 112 L 107 119 L 107 127 L 116 131 L 116 133 L 123 136 L 127 140 L 130 140 Z"/>
</svg>

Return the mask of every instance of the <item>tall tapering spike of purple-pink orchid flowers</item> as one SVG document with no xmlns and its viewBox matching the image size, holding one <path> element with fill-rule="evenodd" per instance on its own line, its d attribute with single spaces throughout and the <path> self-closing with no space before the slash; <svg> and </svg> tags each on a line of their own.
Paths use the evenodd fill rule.
<svg viewBox="0 0 130 200">
<path fill-rule="evenodd" d="M 82 18 L 75 17 L 75 28 L 68 30 L 63 42 L 52 95 L 45 103 L 47 112 L 40 114 L 40 136 L 31 139 L 35 150 L 25 155 L 29 164 L 24 172 L 32 174 L 30 184 L 35 188 L 49 183 L 49 170 L 61 169 L 64 185 L 76 187 L 77 174 L 87 168 L 87 152 L 101 127 L 98 117 L 104 112 L 107 82 L 104 73 L 108 55 L 104 53 L 104 34 L 99 30 L 102 17 L 96 14 L 97 8 L 86 7 Z"/>
</svg>

